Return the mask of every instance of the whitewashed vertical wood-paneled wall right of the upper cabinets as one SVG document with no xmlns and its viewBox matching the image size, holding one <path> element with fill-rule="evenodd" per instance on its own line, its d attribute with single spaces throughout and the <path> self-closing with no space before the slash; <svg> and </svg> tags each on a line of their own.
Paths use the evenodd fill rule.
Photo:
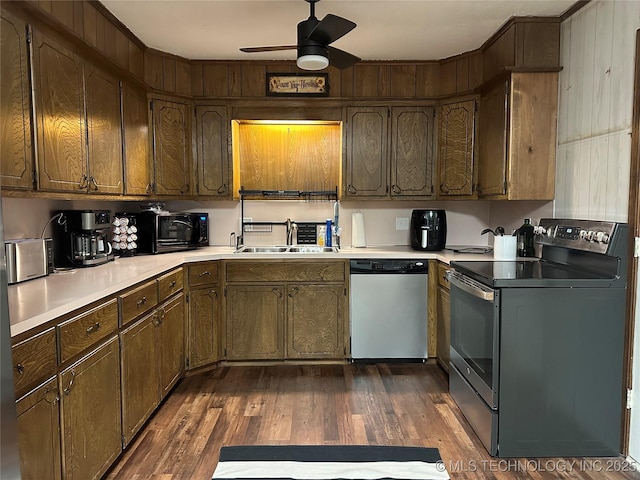
<svg viewBox="0 0 640 480">
<path fill-rule="evenodd" d="M 562 23 L 555 216 L 627 221 L 640 2 L 597 0 Z"/>
</svg>

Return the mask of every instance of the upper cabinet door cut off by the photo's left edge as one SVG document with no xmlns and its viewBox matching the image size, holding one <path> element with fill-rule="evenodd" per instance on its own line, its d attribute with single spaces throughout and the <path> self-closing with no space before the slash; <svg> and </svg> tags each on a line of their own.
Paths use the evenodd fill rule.
<svg viewBox="0 0 640 480">
<path fill-rule="evenodd" d="M 0 182 L 2 187 L 33 188 L 29 60 L 26 25 L 0 11 Z"/>
</svg>

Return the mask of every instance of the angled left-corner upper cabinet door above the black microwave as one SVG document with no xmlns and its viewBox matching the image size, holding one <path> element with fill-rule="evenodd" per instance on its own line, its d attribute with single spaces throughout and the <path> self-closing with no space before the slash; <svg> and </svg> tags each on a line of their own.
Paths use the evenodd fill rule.
<svg viewBox="0 0 640 480">
<path fill-rule="evenodd" d="M 189 118 L 183 103 L 153 100 L 153 159 L 158 195 L 190 193 Z"/>
</svg>

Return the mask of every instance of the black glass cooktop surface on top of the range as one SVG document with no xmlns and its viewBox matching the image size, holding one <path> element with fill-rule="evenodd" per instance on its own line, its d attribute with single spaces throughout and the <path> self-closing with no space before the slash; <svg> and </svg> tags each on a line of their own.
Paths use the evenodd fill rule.
<svg viewBox="0 0 640 480">
<path fill-rule="evenodd" d="M 451 266 L 491 287 L 609 286 L 617 277 L 606 278 L 590 270 L 545 260 L 453 261 Z"/>
</svg>

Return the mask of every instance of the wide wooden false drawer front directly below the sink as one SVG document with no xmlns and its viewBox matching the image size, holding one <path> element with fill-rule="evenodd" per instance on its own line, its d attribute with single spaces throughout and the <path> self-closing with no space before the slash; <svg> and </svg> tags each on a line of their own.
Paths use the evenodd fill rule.
<svg viewBox="0 0 640 480">
<path fill-rule="evenodd" d="M 344 262 L 229 262 L 227 282 L 344 282 Z"/>
</svg>

